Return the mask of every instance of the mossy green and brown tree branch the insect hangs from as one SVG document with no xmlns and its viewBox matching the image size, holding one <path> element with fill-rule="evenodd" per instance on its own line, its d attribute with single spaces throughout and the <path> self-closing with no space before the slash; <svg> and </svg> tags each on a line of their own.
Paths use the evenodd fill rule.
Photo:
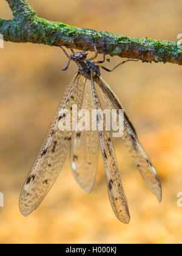
<svg viewBox="0 0 182 256">
<path fill-rule="evenodd" d="M 13 12 L 13 20 L 0 18 L 0 34 L 5 41 L 16 43 L 40 43 L 49 46 L 93 51 L 92 37 L 96 48 L 106 54 L 118 55 L 143 62 L 170 62 L 182 65 L 182 44 L 153 40 L 152 38 L 129 38 L 109 32 L 71 27 L 61 22 L 48 21 L 36 16 L 26 0 L 6 0 Z"/>
</svg>

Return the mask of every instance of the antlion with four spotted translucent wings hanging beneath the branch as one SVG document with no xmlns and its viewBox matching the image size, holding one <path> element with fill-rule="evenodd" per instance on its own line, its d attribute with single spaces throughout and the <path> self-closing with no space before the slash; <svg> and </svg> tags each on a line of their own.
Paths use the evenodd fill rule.
<svg viewBox="0 0 182 256">
<path fill-rule="evenodd" d="M 100 68 L 110 72 L 130 60 L 121 62 L 111 70 L 107 69 L 101 65 L 105 61 L 105 40 L 103 60 L 101 61 L 97 60 L 98 51 L 93 37 L 92 41 L 95 54 L 90 59 L 87 59 L 86 52 L 75 53 L 72 49 L 72 54 L 69 55 L 61 47 L 69 58 L 66 68 L 62 70 L 69 68 L 70 62 L 73 61 L 78 65 L 78 72 L 64 92 L 58 109 L 53 116 L 52 123 L 47 130 L 41 149 L 25 180 L 19 199 L 19 208 L 24 216 L 29 215 L 35 210 L 49 192 L 61 171 L 70 144 L 70 160 L 73 174 L 79 185 L 89 193 L 95 180 L 98 146 L 100 144 L 113 212 L 121 222 L 129 223 L 129 208 L 118 171 L 112 137 L 106 127 L 103 130 L 99 129 L 98 110 L 102 109 L 102 105 L 98 97 L 98 90 L 106 102 L 107 108 L 118 110 L 117 115 L 119 115 L 119 110 L 123 109 L 123 106 L 109 85 L 104 82 L 101 77 Z M 97 130 L 59 129 L 59 121 L 66 118 L 64 110 L 67 109 L 72 112 L 73 104 L 77 105 L 78 110 L 86 108 L 90 111 L 95 108 Z M 161 183 L 158 174 L 141 146 L 135 129 L 125 112 L 122 138 L 147 187 L 157 196 L 158 201 L 161 201 Z"/>
</svg>

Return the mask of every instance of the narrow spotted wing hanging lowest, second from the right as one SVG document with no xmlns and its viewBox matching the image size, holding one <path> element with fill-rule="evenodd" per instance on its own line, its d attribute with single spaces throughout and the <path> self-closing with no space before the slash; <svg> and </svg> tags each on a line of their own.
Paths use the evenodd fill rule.
<svg viewBox="0 0 182 256">
<path fill-rule="evenodd" d="M 118 165 L 116 162 L 115 150 L 113 148 L 112 138 L 110 133 L 106 130 L 105 122 L 103 122 L 103 130 L 99 129 L 99 121 L 101 116 L 99 115 L 99 109 L 102 109 L 99 102 L 98 94 L 96 93 L 95 85 L 92 83 L 93 101 L 96 109 L 96 121 L 98 124 L 99 141 L 101 144 L 101 151 L 103 153 L 104 166 L 107 177 L 107 188 L 109 193 L 110 203 L 113 208 L 113 212 L 116 217 L 124 222 L 129 223 L 130 215 L 129 208 L 127 206 L 127 199 L 124 193 L 123 185 L 121 183 L 120 173 L 118 171 Z"/>
</svg>

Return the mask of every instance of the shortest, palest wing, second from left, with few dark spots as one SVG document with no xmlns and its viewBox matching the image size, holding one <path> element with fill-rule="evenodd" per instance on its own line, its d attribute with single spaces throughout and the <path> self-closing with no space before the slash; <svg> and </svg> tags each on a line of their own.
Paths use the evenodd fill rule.
<svg viewBox="0 0 182 256">
<path fill-rule="evenodd" d="M 92 87 L 89 82 L 86 83 L 84 90 L 82 110 L 87 110 L 89 116 L 86 113 L 84 118 L 79 118 L 89 121 L 91 128 L 91 116 L 92 109 L 94 109 L 93 98 L 92 98 Z M 88 119 L 89 118 L 89 119 Z M 86 122 L 85 121 L 85 126 Z M 79 128 L 79 127 L 78 127 Z M 72 171 L 75 179 L 87 193 L 93 188 L 95 182 L 96 166 L 98 162 L 98 132 L 97 130 L 77 130 L 73 133 L 72 147 L 70 151 L 70 160 L 72 164 Z"/>
</svg>

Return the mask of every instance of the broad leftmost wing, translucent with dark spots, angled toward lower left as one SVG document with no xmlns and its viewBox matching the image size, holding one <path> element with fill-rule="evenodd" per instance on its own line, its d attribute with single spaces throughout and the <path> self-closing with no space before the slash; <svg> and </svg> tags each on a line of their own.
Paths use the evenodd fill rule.
<svg viewBox="0 0 182 256">
<path fill-rule="evenodd" d="M 80 75 L 76 74 L 64 92 L 41 149 L 22 188 L 19 208 L 24 216 L 29 215 L 38 207 L 61 171 L 72 139 L 72 129 L 59 130 L 58 124 L 60 120 L 66 119 L 67 114 L 64 113 L 64 110 L 72 112 L 72 104 L 77 104 L 79 110 L 83 101 L 83 92 L 84 84 Z M 72 120 L 72 118 L 70 119 Z"/>
</svg>

